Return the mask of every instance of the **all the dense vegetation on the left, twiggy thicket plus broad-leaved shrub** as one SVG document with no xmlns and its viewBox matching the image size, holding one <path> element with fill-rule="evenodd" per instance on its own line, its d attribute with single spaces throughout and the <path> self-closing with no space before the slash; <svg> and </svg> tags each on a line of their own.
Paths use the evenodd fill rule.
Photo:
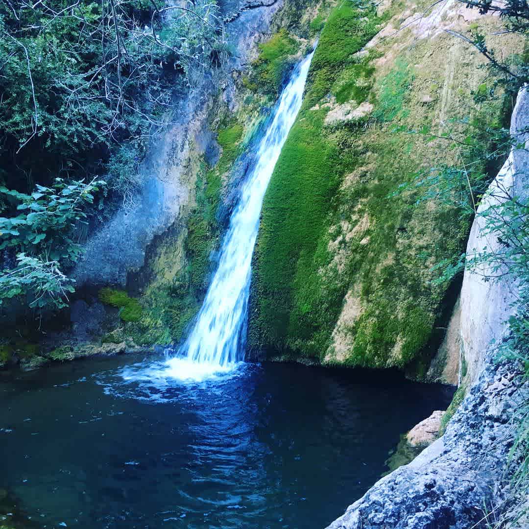
<svg viewBox="0 0 529 529">
<path fill-rule="evenodd" d="M 222 60 L 215 14 L 203 1 L 0 3 L 1 298 L 63 305 L 79 221 L 134 200 L 175 87 Z"/>
</svg>

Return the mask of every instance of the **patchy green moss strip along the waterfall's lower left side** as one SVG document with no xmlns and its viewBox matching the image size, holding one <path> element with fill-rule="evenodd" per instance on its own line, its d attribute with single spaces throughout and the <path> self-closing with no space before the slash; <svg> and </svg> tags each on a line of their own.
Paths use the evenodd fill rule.
<svg viewBox="0 0 529 529">
<path fill-rule="evenodd" d="M 131 329 L 127 327 L 135 343 L 178 342 L 202 305 L 213 266 L 210 256 L 221 238 L 217 212 L 222 189 L 242 151 L 243 135 L 241 123 L 234 119 L 224 122 L 217 133 L 222 148 L 217 163 L 213 167 L 197 163 L 196 207 L 188 214 L 187 235 L 180 230 L 168 233 L 163 250 L 150 263 L 154 280 L 142 297 L 141 320 Z M 134 317 L 139 308 L 123 309 L 122 319 Z"/>
</svg>

